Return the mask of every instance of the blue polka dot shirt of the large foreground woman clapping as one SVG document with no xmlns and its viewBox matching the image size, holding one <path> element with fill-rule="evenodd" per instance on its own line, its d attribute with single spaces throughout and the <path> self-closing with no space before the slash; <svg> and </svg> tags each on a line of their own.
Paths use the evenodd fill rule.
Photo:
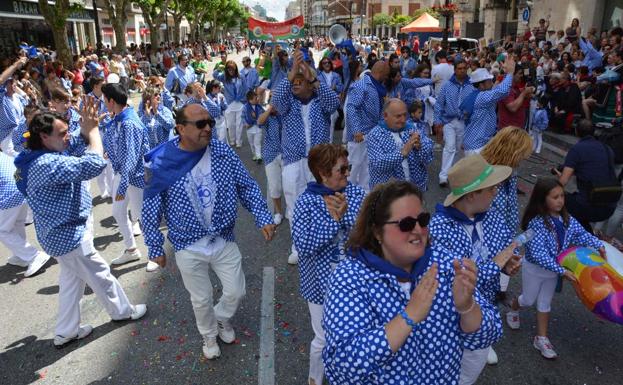
<svg viewBox="0 0 623 385">
<path fill-rule="evenodd" d="M 428 317 L 417 324 L 396 353 L 390 349 L 385 325 L 405 309 L 409 296 L 395 276 L 359 260 L 347 257 L 338 265 L 324 304 L 327 345 L 323 361 L 329 383 L 458 383 L 463 349 L 485 348 L 496 342 L 502 322 L 497 310 L 475 291 L 482 323 L 474 333 L 461 331 L 452 296 L 452 259 L 447 251 L 433 247 L 429 266 L 433 262 L 439 265 L 439 287 Z"/>
</svg>

